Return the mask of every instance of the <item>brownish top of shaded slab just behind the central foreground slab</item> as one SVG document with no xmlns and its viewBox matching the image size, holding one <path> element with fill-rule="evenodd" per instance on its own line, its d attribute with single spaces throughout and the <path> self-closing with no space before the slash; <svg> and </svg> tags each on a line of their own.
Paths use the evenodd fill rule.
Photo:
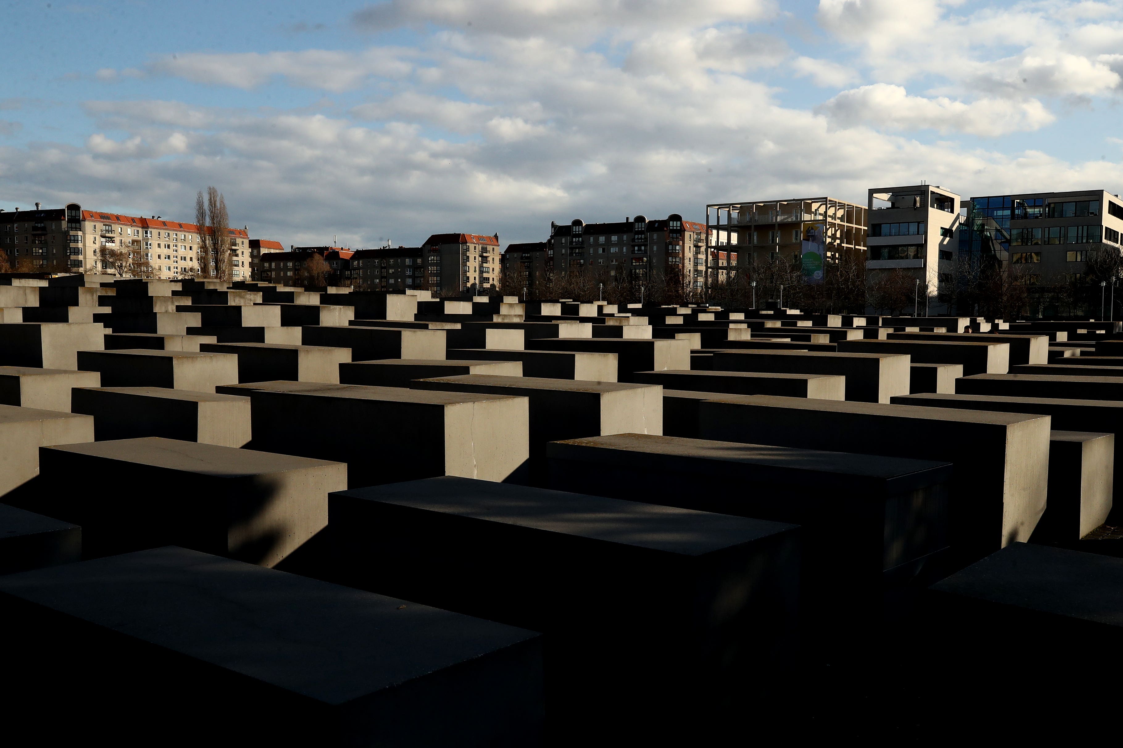
<svg viewBox="0 0 1123 748">
<path fill-rule="evenodd" d="M 869 454 L 851 454 L 848 452 L 827 452 L 823 450 L 804 450 L 788 446 L 768 446 L 764 444 L 741 444 L 734 442 L 714 442 L 703 438 L 684 438 L 679 436 L 652 436 L 650 434 L 613 434 L 611 436 L 592 436 L 587 438 L 570 438 L 554 444 L 569 444 L 593 447 L 601 451 L 603 461 L 615 462 L 619 453 L 631 452 L 650 455 L 663 469 L 673 469 L 670 459 L 686 458 L 690 460 L 707 460 L 714 463 L 733 463 L 772 468 L 789 473 L 793 479 L 797 473 L 829 473 L 833 475 L 852 475 L 860 478 L 893 479 L 907 478 L 919 473 L 929 473 L 934 481 L 951 477 L 951 464 L 931 460 L 913 460 L 910 458 L 884 458 Z M 553 454 L 551 454 L 553 456 Z M 588 460 L 592 460 L 590 454 Z"/>
</svg>

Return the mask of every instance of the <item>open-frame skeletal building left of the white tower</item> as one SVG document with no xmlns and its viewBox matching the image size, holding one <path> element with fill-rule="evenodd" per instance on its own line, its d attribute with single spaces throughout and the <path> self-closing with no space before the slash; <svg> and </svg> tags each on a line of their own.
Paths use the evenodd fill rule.
<svg viewBox="0 0 1123 748">
<path fill-rule="evenodd" d="M 721 268 L 720 256 L 714 251 L 727 252 L 727 270 L 780 259 L 801 261 L 809 279 L 815 280 L 816 271 L 822 277 L 822 267 L 816 270 L 815 264 L 836 261 L 843 251 L 857 252 L 865 260 L 867 211 L 866 205 L 837 197 L 709 204 L 705 227 L 711 250 L 709 266 L 714 270 Z M 815 262 L 804 261 L 807 244 L 823 250 Z"/>
</svg>

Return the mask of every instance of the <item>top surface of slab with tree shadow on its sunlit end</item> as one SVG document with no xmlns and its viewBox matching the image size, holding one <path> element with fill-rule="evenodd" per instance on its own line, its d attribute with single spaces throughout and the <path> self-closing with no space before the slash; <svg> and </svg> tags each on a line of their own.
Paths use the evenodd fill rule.
<svg viewBox="0 0 1123 748">
<path fill-rule="evenodd" d="M 328 460 L 256 452 L 201 442 L 181 442 L 162 436 L 63 444 L 49 449 L 216 478 L 240 478 L 339 464 Z"/>
</svg>

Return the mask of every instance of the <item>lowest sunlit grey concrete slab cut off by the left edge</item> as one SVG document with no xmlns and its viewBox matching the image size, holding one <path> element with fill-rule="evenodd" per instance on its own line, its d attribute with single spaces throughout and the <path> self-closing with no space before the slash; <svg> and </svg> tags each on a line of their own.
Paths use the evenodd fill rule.
<svg viewBox="0 0 1123 748">
<path fill-rule="evenodd" d="M 93 418 L 0 405 L 0 496 L 39 474 L 39 447 L 93 441 Z"/>
</svg>

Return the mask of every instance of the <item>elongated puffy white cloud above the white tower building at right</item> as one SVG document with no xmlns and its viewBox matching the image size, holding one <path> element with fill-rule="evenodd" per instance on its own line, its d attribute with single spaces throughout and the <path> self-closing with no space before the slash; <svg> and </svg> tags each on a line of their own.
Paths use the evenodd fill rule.
<svg viewBox="0 0 1123 748">
<path fill-rule="evenodd" d="M 843 91 L 816 111 L 837 127 L 869 124 L 880 130 L 924 130 L 967 132 L 993 137 L 1037 130 L 1056 117 L 1040 101 L 978 99 L 952 101 L 946 96 L 910 96 L 900 85 L 875 83 Z"/>
</svg>

